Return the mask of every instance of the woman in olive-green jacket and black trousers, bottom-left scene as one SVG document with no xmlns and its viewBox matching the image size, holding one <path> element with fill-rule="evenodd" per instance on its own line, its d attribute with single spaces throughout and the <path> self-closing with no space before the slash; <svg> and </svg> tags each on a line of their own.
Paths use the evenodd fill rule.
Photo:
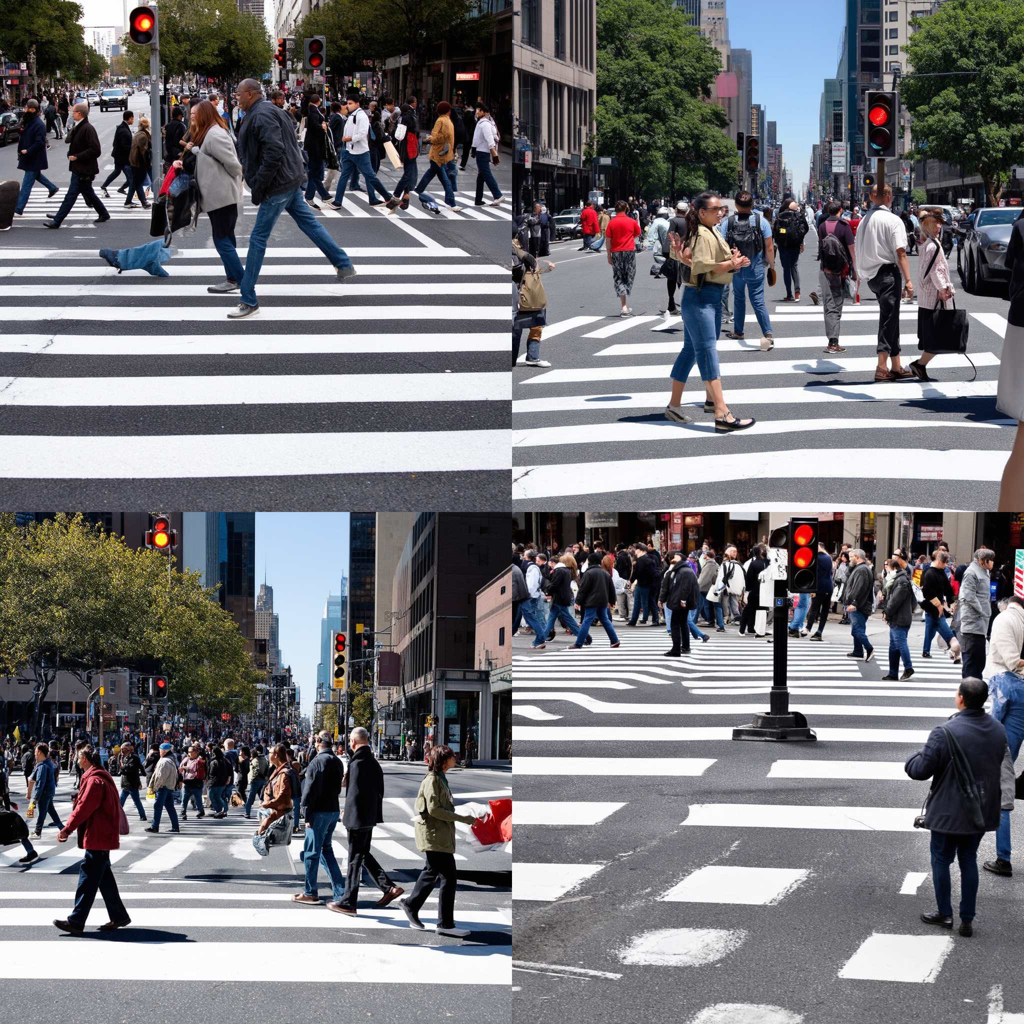
<svg viewBox="0 0 1024 1024">
<path fill-rule="evenodd" d="M 455 751 L 451 746 L 434 746 L 430 751 L 427 774 L 416 796 L 416 848 L 426 854 L 426 866 L 420 871 L 416 886 L 408 899 L 399 900 L 409 923 L 421 931 L 420 907 L 440 884 L 437 899 L 438 935 L 464 939 L 469 929 L 455 927 L 455 823 L 471 825 L 476 818 L 471 814 L 456 814 L 455 801 L 445 774 L 455 765 Z"/>
</svg>

